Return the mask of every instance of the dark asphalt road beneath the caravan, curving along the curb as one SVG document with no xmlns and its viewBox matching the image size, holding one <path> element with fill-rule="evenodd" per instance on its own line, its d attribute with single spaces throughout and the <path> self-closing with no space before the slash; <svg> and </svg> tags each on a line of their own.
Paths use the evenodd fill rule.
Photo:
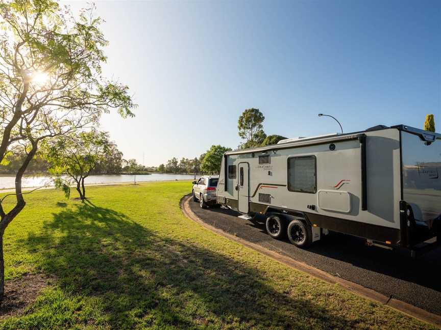
<svg viewBox="0 0 441 330">
<path fill-rule="evenodd" d="M 407 254 L 365 246 L 363 240 L 332 233 L 308 250 L 266 234 L 264 219 L 248 221 L 232 210 L 190 207 L 203 221 L 335 276 L 441 315 L 441 248 L 414 261 Z"/>
</svg>

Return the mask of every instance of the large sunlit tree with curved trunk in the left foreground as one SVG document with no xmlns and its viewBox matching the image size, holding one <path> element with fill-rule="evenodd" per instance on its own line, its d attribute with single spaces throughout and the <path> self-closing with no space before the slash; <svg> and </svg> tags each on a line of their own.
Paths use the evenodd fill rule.
<svg viewBox="0 0 441 330">
<path fill-rule="evenodd" d="M 26 153 L 15 193 L 0 200 L 0 300 L 4 296 L 3 235 L 26 205 L 21 179 L 41 141 L 96 123 L 109 107 L 122 117 L 136 106 L 128 87 L 102 77 L 106 46 L 93 7 L 79 20 L 52 0 L 0 2 L 0 163 Z M 3 202 L 15 195 L 8 211 Z"/>
</svg>

